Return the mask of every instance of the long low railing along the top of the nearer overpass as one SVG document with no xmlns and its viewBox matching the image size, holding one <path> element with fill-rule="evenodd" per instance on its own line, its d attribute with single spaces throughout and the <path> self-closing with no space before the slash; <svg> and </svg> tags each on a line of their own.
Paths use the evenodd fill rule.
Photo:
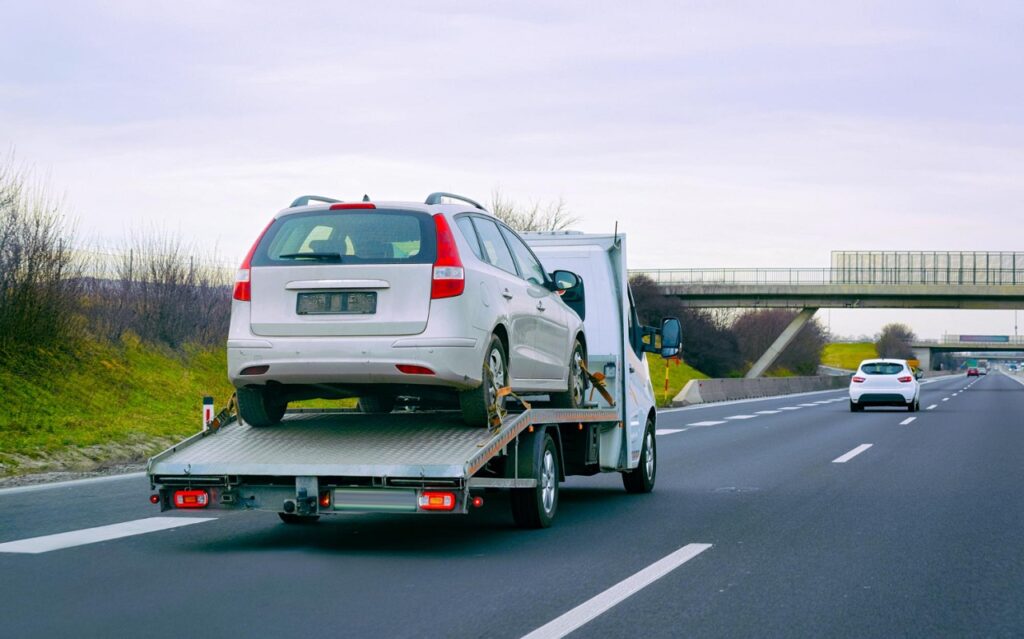
<svg viewBox="0 0 1024 639">
<path fill-rule="evenodd" d="M 678 285 L 1024 286 L 1024 268 L 672 268 L 631 270 Z"/>
</svg>

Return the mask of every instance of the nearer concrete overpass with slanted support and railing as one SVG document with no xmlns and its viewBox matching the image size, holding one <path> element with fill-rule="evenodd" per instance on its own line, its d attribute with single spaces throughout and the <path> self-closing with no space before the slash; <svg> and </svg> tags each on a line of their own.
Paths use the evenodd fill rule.
<svg viewBox="0 0 1024 639">
<path fill-rule="evenodd" d="M 1017 252 L 834 251 L 828 268 L 673 268 L 630 274 L 646 275 L 685 306 L 799 308 L 746 377 L 763 375 L 818 308 L 1024 308 L 1024 253 Z"/>
</svg>

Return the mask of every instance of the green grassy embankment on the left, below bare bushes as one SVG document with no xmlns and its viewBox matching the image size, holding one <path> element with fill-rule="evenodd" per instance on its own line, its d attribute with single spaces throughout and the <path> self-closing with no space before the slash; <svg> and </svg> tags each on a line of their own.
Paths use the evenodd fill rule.
<svg viewBox="0 0 1024 639">
<path fill-rule="evenodd" d="M 173 353 L 128 338 L 0 367 L 0 475 L 138 462 L 199 430 L 203 395 L 231 393 L 224 348 Z"/>
</svg>

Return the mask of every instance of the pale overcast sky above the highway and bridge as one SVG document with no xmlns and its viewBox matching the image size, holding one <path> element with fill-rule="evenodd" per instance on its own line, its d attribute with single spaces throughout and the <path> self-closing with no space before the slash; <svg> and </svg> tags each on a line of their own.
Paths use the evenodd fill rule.
<svg viewBox="0 0 1024 639">
<path fill-rule="evenodd" d="M 500 187 L 617 220 L 634 268 L 1024 250 L 1021 2 L 0 3 L 0 150 L 90 242 L 236 263 L 298 195 Z"/>
</svg>

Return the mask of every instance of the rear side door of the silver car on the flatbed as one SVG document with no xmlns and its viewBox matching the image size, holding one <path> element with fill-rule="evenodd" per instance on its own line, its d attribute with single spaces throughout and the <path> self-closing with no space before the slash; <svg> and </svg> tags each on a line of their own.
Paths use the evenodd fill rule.
<svg viewBox="0 0 1024 639">
<path fill-rule="evenodd" d="M 519 276 L 515 259 L 499 229 L 498 224 L 482 216 L 472 216 L 483 261 L 494 266 L 496 293 L 508 305 L 509 315 L 509 375 L 514 380 L 538 379 L 537 356 L 534 353 L 537 332 L 537 310 L 529 293 L 529 284 Z M 516 384 L 513 384 L 516 386 Z"/>
</svg>

